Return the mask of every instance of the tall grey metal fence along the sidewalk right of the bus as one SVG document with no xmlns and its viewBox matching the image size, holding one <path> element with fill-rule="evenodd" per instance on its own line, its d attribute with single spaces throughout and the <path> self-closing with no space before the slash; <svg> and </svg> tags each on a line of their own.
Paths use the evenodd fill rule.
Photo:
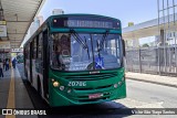
<svg viewBox="0 0 177 118">
<path fill-rule="evenodd" d="M 126 71 L 177 76 L 177 46 L 126 50 Z"/>
</svg>

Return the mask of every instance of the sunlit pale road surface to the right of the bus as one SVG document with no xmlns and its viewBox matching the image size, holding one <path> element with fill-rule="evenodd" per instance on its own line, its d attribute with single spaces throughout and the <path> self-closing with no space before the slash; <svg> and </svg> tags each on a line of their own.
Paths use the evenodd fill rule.
<svg viewBox="0 0 177 118">
<path fill-rule="evenodd" d="M 174 87 L 127 79 L 127 97 L 149 103 L 152 107 L 177 108 L 176 93 Z"/>
</svg>

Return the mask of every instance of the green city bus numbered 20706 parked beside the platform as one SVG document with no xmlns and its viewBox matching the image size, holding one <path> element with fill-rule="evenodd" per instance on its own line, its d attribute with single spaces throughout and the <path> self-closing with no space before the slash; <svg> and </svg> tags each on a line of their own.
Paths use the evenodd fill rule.
<svg viewBox="0 0 177 118">
<path fill-rule="evenodd" d="M 124 49 L 117 19 L 52 15 L 24 44 L 24 73 L 52 107 L 125 98 Z"/>
</svg>

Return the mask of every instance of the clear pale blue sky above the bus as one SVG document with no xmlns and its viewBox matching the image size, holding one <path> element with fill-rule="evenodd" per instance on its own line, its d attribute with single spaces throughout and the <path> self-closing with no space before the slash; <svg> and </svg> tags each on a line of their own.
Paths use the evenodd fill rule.
<svg viewBox="0 0 177 118">
<path fill-rule="evenodd" d="M 102 14 L 119 19 L 123 28 L 128 22 L 135 24 L 156 19 L 157 0 L 45 0 L 39 15 L 44 20 L 53 9 L 63 9 L 64 13 Z"/>
</svg>

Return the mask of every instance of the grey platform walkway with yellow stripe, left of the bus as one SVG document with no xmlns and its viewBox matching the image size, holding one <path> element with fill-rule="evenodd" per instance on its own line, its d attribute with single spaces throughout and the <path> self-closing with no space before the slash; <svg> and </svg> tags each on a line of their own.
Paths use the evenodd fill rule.
<svg viewBox="0 0 177 118">
<path fill-rule="evenodd" d="M 0 78 L 0 108 L 33 108 L 19 69 L 3 71 L 3 75 Z"/>
</svg>

